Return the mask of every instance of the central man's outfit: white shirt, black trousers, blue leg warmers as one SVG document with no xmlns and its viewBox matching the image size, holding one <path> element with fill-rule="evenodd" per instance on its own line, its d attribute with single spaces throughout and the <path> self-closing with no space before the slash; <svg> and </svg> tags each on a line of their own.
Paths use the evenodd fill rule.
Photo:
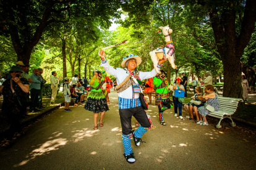
<svg viewBox="0 0 256 170">
<path fill-rule="evenodd" d="M 129 56 L 132 57 L 134 55 L 130 54 Z M 101 60 L 101 66 L 107 73 L 116 77 L 117 84 L 122 83 L 129 75 L 137 79 L 140 84 L 143 79 L 153 78 L 153 76 L 157 74 L 155 69 L 150 72 L 134 71 L 130 73 L 127 69 L 111 67 L 107 60 Z M 160 67 L 161 65 L 158 65 L 159 70 Z M 126 84 L 118 89 L 118 105 L 122 126 L 124 154 L 130 155 L 133 153 L 132 147 L 130 146 L 130 139 L 132 139 L 132 126 L 130 124 L 132 116 L 134 116 L 140 123 L 138 129 L 133 133 L 136 138 L 141 138 L 142 135 L 151 128 L 151 123 L 147 117 L 147 113 L 141 106 L 139 93 L 134 93 L 132 83 L 129 85 Z"/>
</svg>

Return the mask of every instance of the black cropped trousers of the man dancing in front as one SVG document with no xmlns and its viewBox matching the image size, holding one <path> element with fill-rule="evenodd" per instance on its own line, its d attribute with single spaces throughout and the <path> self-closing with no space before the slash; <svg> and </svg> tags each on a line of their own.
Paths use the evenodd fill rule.
<svg viewBox="0 0 256 170">
<path fill-rule="evenodd" d="M 129 135 L 132 132 L 132 126 L 130 125 L 132 116 L 140 123 L 142 127 L 150 127 L 150 121 L 146 115 L 145 110 L 140 107 L 119 109 L 119 115 L 122 125 L 122 134 Z"/>
</svg>

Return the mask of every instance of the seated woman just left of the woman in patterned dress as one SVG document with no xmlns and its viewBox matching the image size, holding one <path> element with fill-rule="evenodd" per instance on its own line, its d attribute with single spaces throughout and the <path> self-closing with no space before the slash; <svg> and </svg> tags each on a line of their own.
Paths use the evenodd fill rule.
<svg viewBox="0 0 256 170">
<path fill-rule="evenodd" d="M 202 88 L 201 87 L 195 87 L 195 95 L 193 95 L 191 97 L 192 100 L 195 100 L 195 101 L 198 101 L 198 102 L 201 102 L 199 105 L 196 105 L 195 103 L 192 103 L 192 102 L 189 102 L 189 103 L 186 103 L 184 105 L 184 108 L 185 110 L 187 111 L 187 113 L 189 113 L 189 116 L 187 116 L 187 119 L 190 120 L 190 119 L 194 119 L 194 107 L 196 107 L 196 110 L 198 107 L 202 107 L 203 104 L 205 103 L 203 100 L 199 100 L 197 98 L 198 95 L 203 95 L 202 94 Z M 198 114 L 195 114 L 197 116 L 197 119 L 199 120 L 199 116 Z"/>
</svg>

